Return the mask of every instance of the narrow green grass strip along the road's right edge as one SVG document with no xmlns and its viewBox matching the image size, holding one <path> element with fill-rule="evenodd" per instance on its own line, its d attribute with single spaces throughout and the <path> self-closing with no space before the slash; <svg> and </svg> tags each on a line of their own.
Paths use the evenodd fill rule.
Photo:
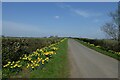
<svg viewBox="0 0 120 80">
<path fill-rule="evenodd" d="M 107 55 L 107 56 L 110 56 L 110 57 L 112 57 L 112 58 L 117 59 L 117 60 L 120 61 L 120 56 L 117 55 L 117 54 L 114 54 L 114 53 L 111 53 L 111 52 L 102 50 L 102 49 L 97 48 L 97 47 L 95 47 L 95 46 L 91 46 L 91 45 L 89 45 L 89 44 L 87 44 L 87 43 L 84 43 L 83 41 L 78 40 L 78 39 L 75 39 L 75 40 L 78 41 L 79 43 L 83 44 L 83 45 L 86 46 L 86 47 L 89 47 L 89 48 L 91 48 L 91 49 L 93 49 L 93 50 L 95 50 L 95 51 L 97 51 L 97 52 L 100 52 L 100 53 L 102 53 L 102 54 L 105 54 L 105 55 Z"/>
</svg>

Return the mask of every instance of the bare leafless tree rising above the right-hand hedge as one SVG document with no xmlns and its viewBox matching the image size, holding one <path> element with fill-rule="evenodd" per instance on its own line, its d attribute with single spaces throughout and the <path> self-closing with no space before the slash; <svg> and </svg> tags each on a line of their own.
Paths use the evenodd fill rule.
<svg viewBox="0 0 120 80">
<path fill-rule="evenodd" d="M 102 31 L 104 31 L 110 38 L 118 40 L 119 37 L 119 16 L 118 11 L 111 12 L 109 16 L 112 18 L 111 22 L 105 23 L 102 26 Z"/>
</svg>

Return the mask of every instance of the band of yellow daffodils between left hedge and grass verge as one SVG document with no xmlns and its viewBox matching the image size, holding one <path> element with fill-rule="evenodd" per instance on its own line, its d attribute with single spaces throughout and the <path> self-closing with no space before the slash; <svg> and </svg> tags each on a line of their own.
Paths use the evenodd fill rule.
<svg viewBox="0 0 120 80">
<path fill-rule="evenodd" d="M 62 39 L 61 41 L 55 44 L 51 44 L 48 47 L 37 49 L 29 55 L 25 54 L 23 57 L 20 57 L 20 60 L 18 61 L 9 61 L 6 65 L 3 66 L 3 68 L 6 67 L 10 69 L 21 69 L 22 67 L 26 67 L 34 69 L 40 65 L 44 65 L 45 62 L 49 61 L 52 55 L 56 54 L 56 50 L 58 50 L 58 47 L 56 46 L 64 40 L 65 39 Z M 120 52 L 118 54 L 120 54 Z M 22 64 L 22 62 L 24 62 L 26 65 Z"/>
</svg>

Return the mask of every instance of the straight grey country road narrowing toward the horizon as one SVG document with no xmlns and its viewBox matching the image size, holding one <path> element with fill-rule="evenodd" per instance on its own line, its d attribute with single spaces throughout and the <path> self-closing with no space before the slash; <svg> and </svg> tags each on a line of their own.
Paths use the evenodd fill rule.
<svg viewBox="0 0 120 80">
<path fill-rule="evenodd" d="M 68 40 L 70 78 L 118 78 L 118 61 Z"/>
</svg>

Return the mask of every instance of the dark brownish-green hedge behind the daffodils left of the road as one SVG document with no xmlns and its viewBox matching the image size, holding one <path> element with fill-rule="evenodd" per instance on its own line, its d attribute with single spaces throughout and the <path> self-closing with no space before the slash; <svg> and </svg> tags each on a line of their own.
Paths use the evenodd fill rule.
<svg viewBox="0 0 120 80">
<path fill-rule="evenodd" d="M 49 46 L 61 38 L 2 38 L 2 64 L 17 61 L 23 54 L 30 54 L 36 49 Z"/>
</svg>

